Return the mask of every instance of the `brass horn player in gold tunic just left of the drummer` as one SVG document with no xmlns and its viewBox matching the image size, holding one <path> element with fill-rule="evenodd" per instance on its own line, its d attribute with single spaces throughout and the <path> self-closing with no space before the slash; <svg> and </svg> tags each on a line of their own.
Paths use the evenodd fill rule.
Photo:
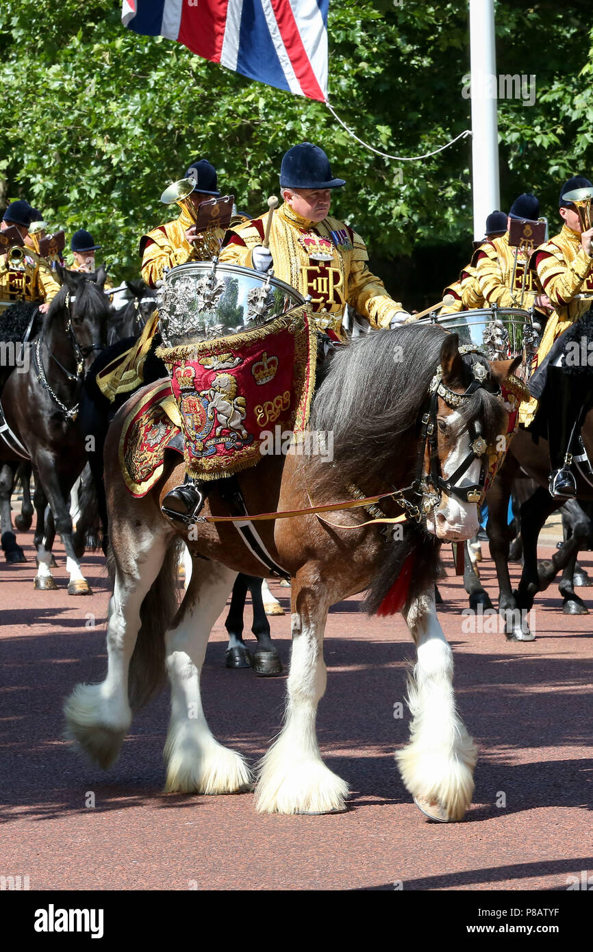
<svg viewBox="0 0 593 952">
<path fill-rule="evenodd" d="M 214 166 L 208 159 L 199 159 L 189 166 L 185 178 L 193 183 L 193 190 L 182 197 L 183 190 L 177 188 L 180 197 L 170 199 L 181 207 L 179 217 L 153 228 L 140 239 L 142 277 L 150 288 L 163 279 L 166 268 L 176 268 L 188 261 L 208 261 L 218 253 L 225 236 L 224 228 L 209 228 L 207 234 L 196 231 L 197 211 L 202 202 L 220 197 Z M 174 186 L 180 187 L 182 182 L 183 179 Z M 168 201 L 166 195 L 167 192 L 162 201 Z"/>
</svg>

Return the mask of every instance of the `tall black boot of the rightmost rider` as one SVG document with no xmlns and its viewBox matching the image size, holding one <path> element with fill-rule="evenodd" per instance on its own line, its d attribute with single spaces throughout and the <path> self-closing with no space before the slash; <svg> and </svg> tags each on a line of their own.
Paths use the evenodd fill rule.
<svg viewBox="0 0 593 952">
<path fill-rule="evenodd" d="M 552 499 L 575 499 L 577 483 L 571 469 L 573 452 L 578 452 L 581 418 L 588 405 L 590 384 L 579 375 L 568 375 L 562 367 L 547 371 L 547 440 L 551 473 L 548 491 Z"/>
</svg>

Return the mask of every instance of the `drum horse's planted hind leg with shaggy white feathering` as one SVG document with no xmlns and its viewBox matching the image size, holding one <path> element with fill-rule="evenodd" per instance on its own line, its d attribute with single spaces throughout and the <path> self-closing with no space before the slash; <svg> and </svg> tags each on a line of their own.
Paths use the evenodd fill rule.
<svg viewBox="0 0 593 952">
<path fill-rule="evenodd" d="M 191 582 L 166 636 L 171 685 L 165 746 L 168 792 L 239 793 L 252 785 L 242 755 L 219 744 L 210 733 L 200 695 L 208 635 L 225 606 L 235 575 L 219 563 L 194 560 Z"/>
</svg>

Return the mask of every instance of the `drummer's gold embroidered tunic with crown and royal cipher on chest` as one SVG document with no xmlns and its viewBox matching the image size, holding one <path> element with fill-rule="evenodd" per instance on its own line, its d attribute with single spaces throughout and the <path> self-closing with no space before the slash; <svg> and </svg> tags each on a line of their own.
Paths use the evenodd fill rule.
<svg viewBox="0 0 593 952">
<path fill-rule="evenodd" d="M 253 268 L 251 252 L 262 244 L 268 214 L 227 231 L 221 262 Z M 328 216 L 314 224 L 285 203 L 274 213 L 269 250 L 274 275 L 304 297 L 311 296 L 320 330 L 333 330 L 345 339 L 342 317 L 346 303 L 371 327 L 389 327 L 395 314 L 404 309 L 369 270 L 363 239 L 337 218 Z"/>
</svg>

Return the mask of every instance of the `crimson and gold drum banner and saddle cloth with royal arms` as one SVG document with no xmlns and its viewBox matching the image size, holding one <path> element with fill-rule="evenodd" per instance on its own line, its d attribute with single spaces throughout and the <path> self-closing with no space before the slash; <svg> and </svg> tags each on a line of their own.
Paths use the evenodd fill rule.
<svg viewBox="0 0 593 952">
<path fill-rule="evenodd" d="M 132 398 L 120 437 L 120 466 L 134 496 L 160 479 L 167 449 L 183 453 L 193 478 L 214 480 L 255 466 L 277 427 L 306 428 L 317 357 L 306 307 L 232 336 L 160 347 L 157 356 L 170 380 Z"/>
</svg>

